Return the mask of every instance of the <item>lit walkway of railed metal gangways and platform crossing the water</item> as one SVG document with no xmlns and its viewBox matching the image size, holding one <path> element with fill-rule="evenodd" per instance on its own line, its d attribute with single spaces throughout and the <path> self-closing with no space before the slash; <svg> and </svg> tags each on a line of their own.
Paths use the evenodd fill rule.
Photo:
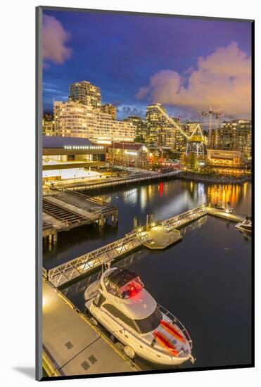
<svg viewBox="0 0 261 387">
<path fill-rule="evenodd" d="M 179 228 L 205 215 L 221 217 L 233 222 L 242 222 L 244 219 L 241 215 L 232 214 L 226 210 L 219 210 L 204 203 L 182 214 L 170 217 L 167 220 L 158 220 L 153 224 L 137 227 L 134 231 L 126 234 L 124 238 L 102 246 L 90 253 L 81 255 L 62 265 L 53 267 L 53 269 L 49 269 L 48 271 L 44 269 L 44 277 L 54 286 L 58 287 L 83 274 L 91 272 L 91 270 L 96 269 L 104 263 L 113 262 L 113 260 L 121 258 L 122 255 L 131 252 L 135 248 L 145 246 L 150 250 L 163 250 L 182 239 Z"/>
</svg>

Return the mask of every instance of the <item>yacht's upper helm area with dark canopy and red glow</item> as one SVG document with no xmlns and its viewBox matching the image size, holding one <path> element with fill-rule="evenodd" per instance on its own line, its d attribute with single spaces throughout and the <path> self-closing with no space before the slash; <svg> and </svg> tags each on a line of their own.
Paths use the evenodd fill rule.
<svg viewBox="0 0 261 387">
<path fill-rule="evenodd" d="M 136 273 L 120 268 L 109 272 L 104 277 L 104 285 L 108 293 L 124 300 L 135 296 L 144 288 L 144 284 Z"/>
</svg>

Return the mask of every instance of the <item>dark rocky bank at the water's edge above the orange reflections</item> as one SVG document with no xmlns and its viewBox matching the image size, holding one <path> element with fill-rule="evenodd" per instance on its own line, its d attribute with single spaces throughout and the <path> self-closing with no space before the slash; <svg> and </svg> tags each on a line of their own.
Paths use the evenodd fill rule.
<svg viewBox="0 0 261 387">
<path fill-rule="evenodd" d="M 199 175 L 193 172 L 181 172 L 177 179 L 210 184 L 243 184 L 245 182 L 252 182 L 252 174 L 236 177 L 231 175 Z"/>
</svg>

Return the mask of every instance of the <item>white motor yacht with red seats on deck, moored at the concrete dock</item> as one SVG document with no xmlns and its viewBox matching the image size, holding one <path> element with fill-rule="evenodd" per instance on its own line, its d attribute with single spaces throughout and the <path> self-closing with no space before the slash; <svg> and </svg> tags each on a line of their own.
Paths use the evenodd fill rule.
<svg viewBox="0 0 261 387">
<path fill-rule="evenodd" d="M 130 358 L 178 365 L 194 358 L 192 341 L 179 320 L 157 305 L 141 279 L 129 269 L 106 269 L 84 292 L 93 318 L 124 345 Z"/>
</svg>

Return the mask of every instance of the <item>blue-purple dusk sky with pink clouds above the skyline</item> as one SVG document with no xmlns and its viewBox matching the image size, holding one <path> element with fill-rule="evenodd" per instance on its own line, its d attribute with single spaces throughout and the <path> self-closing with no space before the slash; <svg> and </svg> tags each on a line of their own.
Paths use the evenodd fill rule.
<svg viewBox="0 0 261 387">
<path fill-rule="evenodd" d="M 43 24 L 44 111 L 87 80 L 120 119 L 153 102 L 182 119 L 209 106 L 250 118 L 249 22 L 44 11 Z"/>
</svg>

